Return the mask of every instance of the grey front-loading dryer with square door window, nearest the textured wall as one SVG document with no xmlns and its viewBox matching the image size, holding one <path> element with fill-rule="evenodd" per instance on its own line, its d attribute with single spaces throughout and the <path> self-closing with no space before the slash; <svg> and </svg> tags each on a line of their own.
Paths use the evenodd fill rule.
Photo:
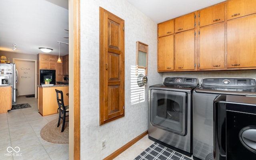
<svg viewBox="0 0 256 160">
<path fill-rule="evenodd" d="M 149 87 L 148 137 L 182 154 L 192 155 L 192 90 L 197 78 L 165 78 Z"/>
</svg>

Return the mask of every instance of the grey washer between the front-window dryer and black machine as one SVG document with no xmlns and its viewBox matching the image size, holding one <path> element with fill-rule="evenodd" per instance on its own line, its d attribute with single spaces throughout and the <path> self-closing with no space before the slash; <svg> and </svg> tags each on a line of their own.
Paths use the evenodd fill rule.
<svg viewBox="0 0 256 160">
<path fill-rule="evenodd" d="M 256 96 L 255 78 L 203 78 L 193 97 L 193 158 L 205 160 L 213 152 L 213 101 L 216 96 Z M 210 160 L 210 158 L 209 158 Z M 212 159 L 213 160 L 213 159 Z"/>
</svg>

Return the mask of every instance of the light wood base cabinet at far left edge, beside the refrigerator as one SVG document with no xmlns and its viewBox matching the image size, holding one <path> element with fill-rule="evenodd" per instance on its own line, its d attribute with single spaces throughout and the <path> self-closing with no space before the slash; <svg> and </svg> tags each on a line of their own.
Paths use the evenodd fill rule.
<svg viewBox="0 0 256 160">
<path fill-rule="evenodd" d="M 12 109 L 12 87 L 0 86 L 0 114 Z"/>
</svg>

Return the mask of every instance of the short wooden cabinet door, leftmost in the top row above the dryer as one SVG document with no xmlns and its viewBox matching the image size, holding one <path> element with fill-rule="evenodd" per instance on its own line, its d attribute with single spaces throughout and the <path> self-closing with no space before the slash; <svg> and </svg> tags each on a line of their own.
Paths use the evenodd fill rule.
<svg viewBox="0 0 256 160">
<path fill-rule="evenodd" d="M 174 34 L 174 20 L 168 20 L 158 24 L 158 37 Z"/>
</svg>

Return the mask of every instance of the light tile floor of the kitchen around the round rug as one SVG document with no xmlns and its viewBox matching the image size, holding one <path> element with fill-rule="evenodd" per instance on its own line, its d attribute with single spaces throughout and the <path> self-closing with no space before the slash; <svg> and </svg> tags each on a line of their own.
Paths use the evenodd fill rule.
<svg viewBox="0 0 256 160">
<path fill-rule="evenodd" d="M 42 127 L 58 118 L 58 114 L 42 117 L 38 113 L 37 98 L 19 96 L 16 104 L 21 103 L 32 107 L 0 114 L 0 160 L 67 160 L 68 144 L 50 143 L 40 136 Z M 9 146 L 18 146 L 20 152 L 9 154 Z"/>
</svg>

